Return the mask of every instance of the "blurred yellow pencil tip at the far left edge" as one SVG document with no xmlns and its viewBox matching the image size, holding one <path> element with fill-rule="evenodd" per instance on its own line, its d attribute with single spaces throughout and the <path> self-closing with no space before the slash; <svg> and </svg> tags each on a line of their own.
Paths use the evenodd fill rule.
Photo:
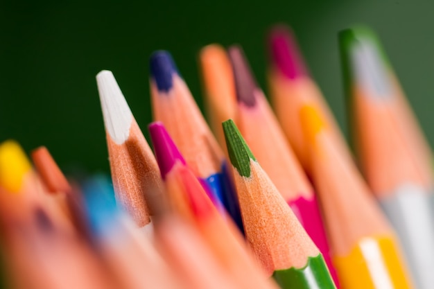
<svg viewBox="0 0 434 289">
<path fill-rule="evenodd" d="M 0 144 L 0 186 L 11 193 L 21 189 L 23 178 L 31 170 L 30 161 L 16 141 Z"/>
</svg>

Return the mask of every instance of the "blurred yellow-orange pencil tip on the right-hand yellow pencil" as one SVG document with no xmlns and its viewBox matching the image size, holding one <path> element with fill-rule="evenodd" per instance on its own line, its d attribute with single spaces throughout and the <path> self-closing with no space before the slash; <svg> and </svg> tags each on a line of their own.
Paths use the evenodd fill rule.
<svg viewBox="0 0 434 289">
<path fill-rule="evenodd" d="M 304 105 L 300 109 L 300 121 L 306 141 L 315 144 L 316 135 L 326 126 L 320 116 L 320 112 L 311 105 Z"/>
</svg>

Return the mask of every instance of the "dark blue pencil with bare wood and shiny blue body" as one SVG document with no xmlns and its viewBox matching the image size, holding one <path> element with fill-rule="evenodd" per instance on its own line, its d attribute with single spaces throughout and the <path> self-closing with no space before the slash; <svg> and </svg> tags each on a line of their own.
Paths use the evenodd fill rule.
<svg viewBox="0 0 434 289">
<path fill-rule="evenodd" d="M 243 231 L 238 200 L 223 151 L 168 52 L 157 51 L 151 56 L 150 74 L 154 119 L 164 123 L 191 170 L 209 184 Z"/>
</svg>

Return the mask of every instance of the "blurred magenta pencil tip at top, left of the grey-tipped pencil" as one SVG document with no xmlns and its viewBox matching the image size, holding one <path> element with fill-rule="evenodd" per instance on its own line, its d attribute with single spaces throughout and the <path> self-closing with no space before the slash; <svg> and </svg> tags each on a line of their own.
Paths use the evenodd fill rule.
<svg viewBox="0 0 434 289">
<path fill-rule="evenodd" d="M 286 26 L 272 28 L 269 41 L 272 63 L 284 76 L 296 79 L 308 75 L 290 28 Z"/>
</svg>

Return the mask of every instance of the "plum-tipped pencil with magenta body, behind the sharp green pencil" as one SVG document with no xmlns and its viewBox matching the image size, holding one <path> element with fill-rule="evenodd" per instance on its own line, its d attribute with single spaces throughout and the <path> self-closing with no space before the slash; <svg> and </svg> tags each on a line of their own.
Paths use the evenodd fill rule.
<svg viewBox="0 0 434 289">
<path fill-rule="evenodd" d="M 266 97 L 257 86 L 241 48 L 229 48 L 237 91 L 236 125 L 279 193 L 322 253 L 333 280 L 329 245 L 311 184 L 290 148 Z"/>
</svg>

